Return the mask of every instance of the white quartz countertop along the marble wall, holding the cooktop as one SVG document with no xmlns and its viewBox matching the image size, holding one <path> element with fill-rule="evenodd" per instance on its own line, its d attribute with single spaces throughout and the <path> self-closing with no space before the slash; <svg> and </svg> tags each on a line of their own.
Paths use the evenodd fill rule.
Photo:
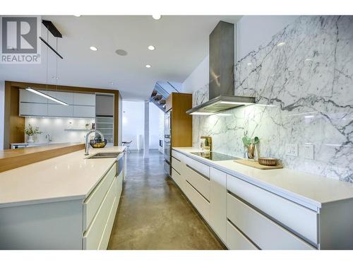
<svg viewBox="0 0 353 265">
<path fill-rule="evenodd" d="M 211 161 L 191 153 L 199 152 L 200 149 L 198 148 L 175 147 L 173 149 L 189 156 L 189 158 L 256 184 L 258 187 L 267 189 L 304 206 L 311 206 L 311 208 L 321 208 L 323 204 L 353 199 L 352 183 L 286 168 L 258 170 L 254 167 L 241 165 L 233 160 Z"/>
</svg>

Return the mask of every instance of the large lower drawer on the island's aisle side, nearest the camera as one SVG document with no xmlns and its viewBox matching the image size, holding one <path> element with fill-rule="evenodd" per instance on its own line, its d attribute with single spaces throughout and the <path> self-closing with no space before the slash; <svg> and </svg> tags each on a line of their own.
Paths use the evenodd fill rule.
<svg viewBox="0 0 353 265">
<path fill-rule="evenodd" d="M 117 179 L 115 178 L 114 182 L 112 182 L 111 186 L 109 187 L 109 190 L 104 197 L 104 200 L 98 209 L 95 218 L 93 218 L 90 227 L 85 231 L 83 235 L 83 249 L 100 249 L 101 245 L 104 246 L 105 244 L 108 244 L 107 241 L 109 241 L 110 231 L 112 230 L 110 227 L 110 225 L 112 225 L 111 218 L 112 214 L 115 216 L 116 212 L 116 182 Z M 107 237 L 108 232 L 109 235 Z"/>
</svg>

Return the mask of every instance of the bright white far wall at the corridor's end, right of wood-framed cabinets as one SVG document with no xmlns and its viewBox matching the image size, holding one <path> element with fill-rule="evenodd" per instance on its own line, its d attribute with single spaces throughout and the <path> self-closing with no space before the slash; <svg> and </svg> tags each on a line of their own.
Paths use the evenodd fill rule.
<svg viewBox="0 0 353 265">
<path fill-rule="evenodd" d="M 131 150 L 143 150 L 144 104 L 143 101 L 123 101 L 123 141 L 132 140 Z"/>
</svg>

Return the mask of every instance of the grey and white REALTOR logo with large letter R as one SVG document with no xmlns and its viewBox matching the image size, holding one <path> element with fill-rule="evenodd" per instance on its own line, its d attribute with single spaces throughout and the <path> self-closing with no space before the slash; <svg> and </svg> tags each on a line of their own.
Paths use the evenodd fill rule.
<svg viewBox="0 0 353 265">
<path fill-rule="evenodd" d="M 0 63 L 40 64 L 40 17 L 0 18 Z"/>
</svg>

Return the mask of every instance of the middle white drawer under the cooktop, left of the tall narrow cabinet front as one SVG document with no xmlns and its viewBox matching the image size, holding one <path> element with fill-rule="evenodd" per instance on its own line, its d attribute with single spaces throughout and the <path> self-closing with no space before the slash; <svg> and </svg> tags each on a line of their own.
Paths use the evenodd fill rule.
<svg viewBox="0 0 353 265">
<path fill-rule="evenodd" d="M 205 167 L 207 167 L 205 165 Z M 185 179 L 205 197 L 210 201 L 210 179 L 204 175 L 199 174 L 193 168 L 186 165 L 184 170 Z"/>
</svg>

